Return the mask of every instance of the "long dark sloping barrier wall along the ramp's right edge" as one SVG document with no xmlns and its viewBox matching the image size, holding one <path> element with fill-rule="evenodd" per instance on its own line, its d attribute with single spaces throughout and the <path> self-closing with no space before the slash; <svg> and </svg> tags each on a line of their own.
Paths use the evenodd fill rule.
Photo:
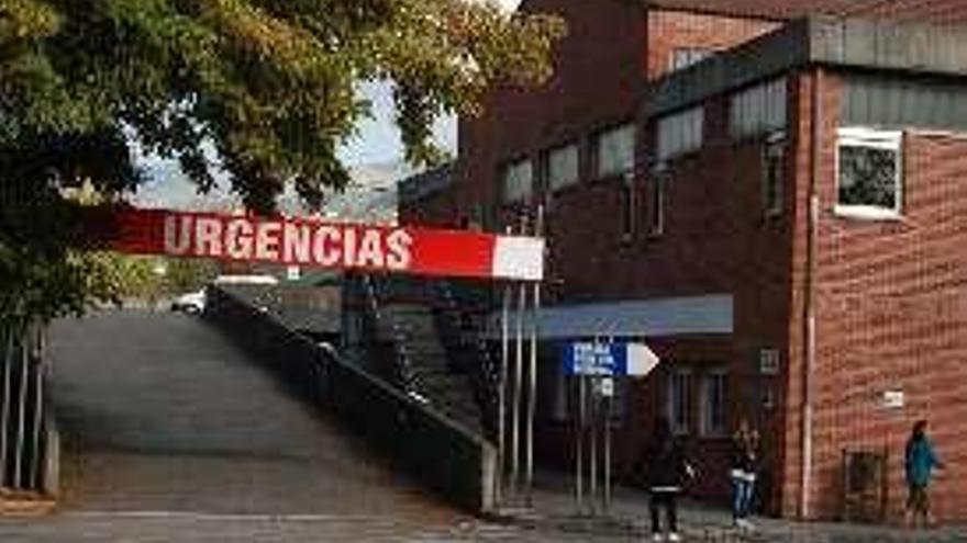
<svg viewBox="0 0 967 543">
<path fill-rule="evenodd" d="M 210 287 L 204 317 L 294 393 L 365 435 L 399 468 L 465 509 L 493 509 L 497 451 L 490 443 L 246 298 L 226 287 Z"/>
</svg>

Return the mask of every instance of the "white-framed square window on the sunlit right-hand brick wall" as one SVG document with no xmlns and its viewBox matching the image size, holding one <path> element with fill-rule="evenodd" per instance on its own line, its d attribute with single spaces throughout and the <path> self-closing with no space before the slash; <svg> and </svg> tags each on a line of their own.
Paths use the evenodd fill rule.
<svg viewBox="0 0 967 543">
<path fill-rule="evenodd" d="M 863 218 L 900 214 L 902 133 L 840 128 L 836 213 Z"/>
</svg>

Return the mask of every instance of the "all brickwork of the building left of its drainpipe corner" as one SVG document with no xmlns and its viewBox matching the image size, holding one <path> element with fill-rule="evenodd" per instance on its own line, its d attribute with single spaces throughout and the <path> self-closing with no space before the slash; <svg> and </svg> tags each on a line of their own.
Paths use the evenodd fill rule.
<svg viewBox="0 0 967 543">
<path fill-rule="evenodd" d="M 526 5 L 562 13 L 570 23 L 558 52 L 557 76 L 538 91 L 497 90 L 484 117 L 460 123 L 459 205 L 467 210 L 482 201 L 499 207 L 494 189 L 501 165 L 524 156 L 536 160 L 546 149 L 577 142 L 581 181 L 535 199 L 547 204 L 547 302 L 733 293 L 734 338 L 648 338 L 648 343 L 668 365 L 682 364 L 696 372 L 693 429 L 699 426 L 699 377 L 708 370 L 725 369 L 729 396 L 735 404 L 732 412 L 760 414 L 753 418 L 763 433 L 779 433 L 769 429 L 779 423 L 781 411 L 757 409 L 764 381 L 756 362 L 759 349 L 787 343 L 790 227 L 786 216 L 767 219 L 763 213 L 763 142 L 730 142 L 724 101 L 712 104 L 705 149 L 674 167 L 675 179 L 666 194 L 666 233 L 659 238 L 649 238 L 644 229 L 652 212 L 644 160 L 636 166 L 630 206 L 623 178 L 593 179 L 591 170 L 593 135 L 621 122 L 638 123 L 638 155 L 645 155 L 648 131 L 641 112 L 647 80 L 649 73 L 656 77 L 667 69 L 674 47 L 725 47 L 766 32 L 774 23 L 677 12 L 646 16 L 633 2 L 620 1 L 597 2 L 593 8 L 565 0 Z M 502 208 L 496 215 L 509 224 L 516 211 Z M 626 212 L 635 223 L 630 236 L 623 235 Z M 631 391 L 627 425 L 616 435 L 620 470 L 633 463 L 656 412 L 664 409 L 666 378 L 667 373 L 659 372 Z M 569 465 L 565 445 L 569 441 L 560 442 L 567 429 L 545 430 L 546 441 L 556 444 L 542 450 Z M 726 496 L 727 440 L 692 438 L 704 475 L 696 494 Z M 778 448 L 774 441 L 768 439 L 766 445 L 770 471 L 778 472 L 771 460 Z"/>
</svg>

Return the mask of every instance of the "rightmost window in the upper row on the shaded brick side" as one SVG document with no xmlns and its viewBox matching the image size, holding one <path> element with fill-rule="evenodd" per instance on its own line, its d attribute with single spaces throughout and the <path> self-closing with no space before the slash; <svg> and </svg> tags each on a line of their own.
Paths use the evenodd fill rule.
<svg viewBox="0 0 967 543">
<path fill-rule="evenodd" d="M 730 133 L 743 138 L 786 129 L 788 87 L 786 78 L 757 84 L 730 100 Z"/>
</svg>

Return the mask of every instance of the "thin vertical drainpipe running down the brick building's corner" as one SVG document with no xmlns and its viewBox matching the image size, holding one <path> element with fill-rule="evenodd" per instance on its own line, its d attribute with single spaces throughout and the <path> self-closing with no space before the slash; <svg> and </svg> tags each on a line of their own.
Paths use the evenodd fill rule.
<svg viewBox="0 0 967 543">
<path fill-rule="evenodd" d="M 812 494 L 812 426 L 813 426 L 813 369 L 816 351 L 816 317 L 815 317 L 815 275 L 816 275 L 816 241 L 820 219 L 820 199 L 816 182 L 820 177 L 819 148 L 822 140 L 823 110 L 820 101 L 822 70 L 815 69 L 812 78 L 812 102 L 810 104 L 812 136 L 810 140 L 810 177 L 809 177 L 809 216 L 807 218 L 805 281 L 804 281 L 804 342 L 802 365 L 802 450 L 799 516 L 803 520 L 810 517 L 809 499 Z"/>
</svg>

